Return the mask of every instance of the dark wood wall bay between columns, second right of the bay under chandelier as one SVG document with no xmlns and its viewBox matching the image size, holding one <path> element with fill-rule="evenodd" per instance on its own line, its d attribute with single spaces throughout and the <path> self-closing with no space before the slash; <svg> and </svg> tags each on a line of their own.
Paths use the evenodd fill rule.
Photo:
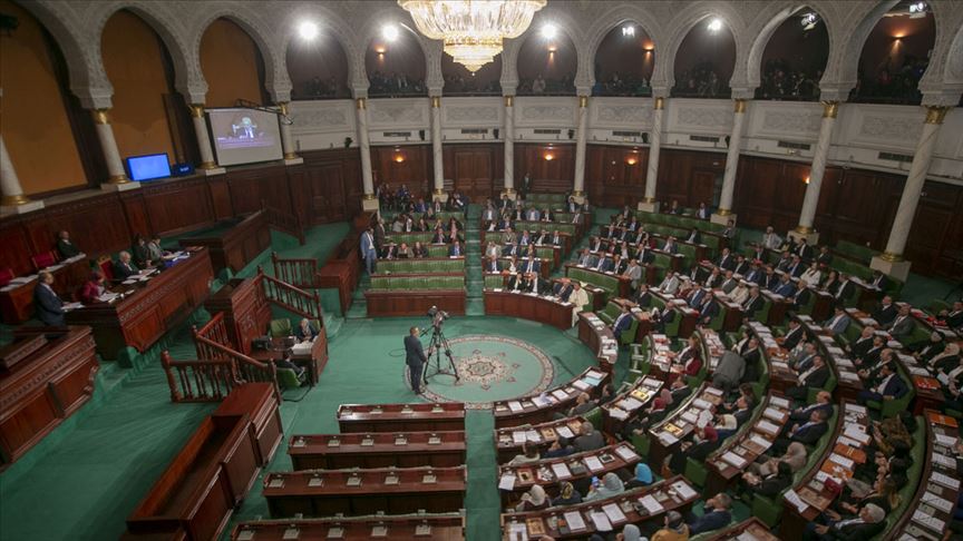
<svg viewBox="0 0 963 541">
<path fill-rule="evenodd" d="M 648 148 L 590 145 L 585 154 L 585 188 L 593 205 L 634 206 L 645 193 Z"/>
</svg>

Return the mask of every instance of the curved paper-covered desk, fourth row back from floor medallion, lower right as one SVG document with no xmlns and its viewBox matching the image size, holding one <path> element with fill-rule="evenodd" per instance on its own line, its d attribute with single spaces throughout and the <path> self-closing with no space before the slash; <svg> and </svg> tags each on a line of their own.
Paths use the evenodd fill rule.
<svg viewBox="0 0 963 541">
<path fill-rule="evenodd" d="M 707 460 L 708 475 L 706 478 L 706 490 L 703 498 L 728 490 L 742 474 L 746 466 L 756 462 L 772 446 L 782 427 L 789 421 L 791 402 L 784 396 L 771 393 L 766 396 L 758 415 L 747 430 L 738 437 L 730 437 L 714 451 Z"/>
</svg>

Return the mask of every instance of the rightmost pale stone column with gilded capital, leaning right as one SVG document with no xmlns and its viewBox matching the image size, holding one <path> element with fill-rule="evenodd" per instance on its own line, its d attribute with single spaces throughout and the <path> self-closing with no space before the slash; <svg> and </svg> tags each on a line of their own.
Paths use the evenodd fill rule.
<svg viewBox="0 0 963 541">
<path fill-rule="evenodd" d="M 909 275 L 909 262 L 903 259 L 903 250 L 906 248 L 906 239 L 909 238 L 909 229 L 913 227 L 913 218 L 916 216 L 916 205 L 926 181 L 926 173 L 933 159 L 933 147 L 940 136 L 940 127 L 946 117 L 949 107 L 926 107 L 926 121 L 920 141 L 916 142 L 916 151 L 913 154 L 913 164 L 906 175 L 906 184 L 903 187 L 903 197 L 899 198 L 899 207 L 893 219 L 893 228 L 889 229 L 889 240 L 886 250 L 873 258 L 869 267 L 894 276 L 903 282 Z"/>
</svg>

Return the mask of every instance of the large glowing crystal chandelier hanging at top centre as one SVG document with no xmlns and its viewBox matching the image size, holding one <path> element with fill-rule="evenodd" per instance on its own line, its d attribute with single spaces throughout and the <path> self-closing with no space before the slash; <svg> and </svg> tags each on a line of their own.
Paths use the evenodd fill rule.
<svg viewBox="0 0 963 541">
<path fill-rule="evenodd" d="M 429 39 L 470 72 L 502 52 L 502 41 L 522 36 L 546 0 L 398 0 Z"/>
</svg>

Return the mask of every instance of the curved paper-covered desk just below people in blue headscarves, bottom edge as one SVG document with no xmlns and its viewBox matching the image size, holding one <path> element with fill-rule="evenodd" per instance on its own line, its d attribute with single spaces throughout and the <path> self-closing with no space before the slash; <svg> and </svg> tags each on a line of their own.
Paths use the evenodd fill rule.
<svg viewBox="0 0 963 541">
<path fill-rule="evenodd" d="M 652 496 L 658 505 L 653 511 L 649 511 L 639 503 L 642 499 L 651 501 L 646 496 Z M 541 535 L 549 535 L 552 539 L 586 539 L 597 531 L 592 521 L 592 512 L 601 511 L 610 504 L 614 504 L 625 515 L 624 521 L 620 520 L 613 524 L 616 530 L 621 530 L 622 525 L 628 523 L 641 524 L 643 522 L 662 528 L 662 517 L 665 513 L 679 511 L 684 517 L 698 499 L 697 489 L 683 476 L 675 475 L 650 486 L 629 490 L 611 498 L 577 505 L 549 508 L 526 513 L 503 513 L 502 539 L 517 539 L 509 537 L 509 532 L 516 528 L 525 530 L 529 539 L 539 539 Z M 566 514 L 568 514 L 567 518 Z M 572 531 L 570 521 L 576 517 L 585 524 L 585 528 Z"/>
</svg>

